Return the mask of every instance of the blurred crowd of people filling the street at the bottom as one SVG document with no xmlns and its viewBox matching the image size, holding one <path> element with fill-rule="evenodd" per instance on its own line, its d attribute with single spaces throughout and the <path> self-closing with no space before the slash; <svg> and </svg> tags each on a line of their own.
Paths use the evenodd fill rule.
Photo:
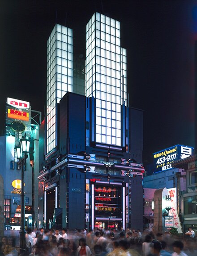
<svg viewBox="0 0 197 256">
<path fill-rule="evenodd" d="M 197 243 L 189 228 L 186 236 L 169 231 L 154 234 L 145 229 L 27 229 L 26 250 L 21 253 L 14 236 L 4 236 L 0 256 L 197 256 Z"/>
</svg>

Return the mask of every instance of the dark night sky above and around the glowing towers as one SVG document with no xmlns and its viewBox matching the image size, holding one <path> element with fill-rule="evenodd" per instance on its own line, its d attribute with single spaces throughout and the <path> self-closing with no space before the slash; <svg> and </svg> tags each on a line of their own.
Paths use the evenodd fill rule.
<svg viewBox="0 0 197 256">
<path fill-rule="evenodd" d="M 1 0 L 1 129 L 7 97 L 44 112 L 47 38 L 55 23 L 73 29 L 74 53 L 85 55 L 86 23 L 96 11 L 121 22 L 129 105 L 144 110 L 144 163 L 160 149 L 194 146 L 197 1 L 192 0 Z"/>
</svg>

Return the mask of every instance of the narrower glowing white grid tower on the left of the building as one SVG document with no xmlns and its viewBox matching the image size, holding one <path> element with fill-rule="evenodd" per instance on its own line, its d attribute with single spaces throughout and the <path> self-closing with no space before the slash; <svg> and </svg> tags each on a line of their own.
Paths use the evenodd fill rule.
<svg viewBox="0 0 197 256">
<path fill-rule="evenodd" d="M 47 153 L 56 147 L 56 104 L 73 92 L 73 30 L 59 24 L 47 40 Z"/>
</svg>

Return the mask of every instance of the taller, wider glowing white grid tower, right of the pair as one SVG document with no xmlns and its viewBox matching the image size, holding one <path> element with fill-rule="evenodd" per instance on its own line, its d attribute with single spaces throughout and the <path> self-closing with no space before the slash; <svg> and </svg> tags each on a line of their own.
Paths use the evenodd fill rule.
<svg viewBox="0 0 197 256">
<path fill-rule="evenodd" d="M 96 142 L 121 146 L 121 105 L 127 105 L 126 50 L 120 22 L 94 13 L 86 26 L 86 96 L 96 99 Z"/>
</svg>

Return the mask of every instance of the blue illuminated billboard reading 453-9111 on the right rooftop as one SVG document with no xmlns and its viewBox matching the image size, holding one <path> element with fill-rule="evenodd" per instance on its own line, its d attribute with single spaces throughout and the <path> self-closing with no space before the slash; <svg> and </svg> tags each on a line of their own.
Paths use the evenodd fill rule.
<svg viewBox="0 0 197 256">
<path fill-rule="evenodd" d="M 193 154 L 193 148 L 183 145 L 176 145 L 154 153 L 154 170 L 165 171 L 171 169 L 171 163 L 175 160 L 190 157 Z"/>
</svg>

